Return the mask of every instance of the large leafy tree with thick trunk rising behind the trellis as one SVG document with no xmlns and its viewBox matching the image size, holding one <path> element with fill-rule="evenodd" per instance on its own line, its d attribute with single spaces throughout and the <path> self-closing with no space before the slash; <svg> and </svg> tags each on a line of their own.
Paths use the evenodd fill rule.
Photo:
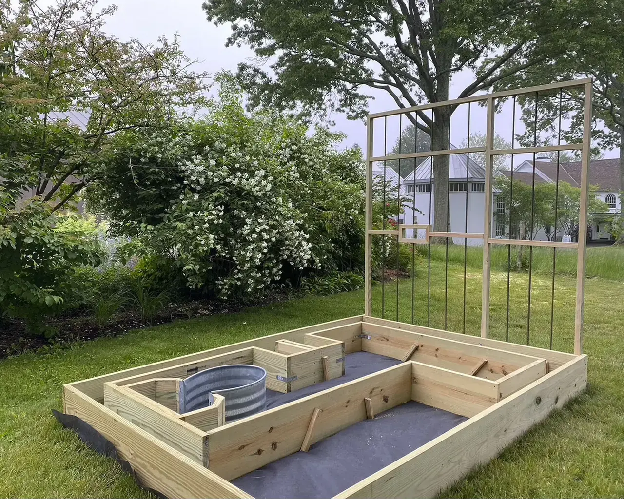
<svg viewBox="0 0 624 499">
<path fill-rule="evenodd" d="M 228 45 L 247 44 L 270 61 L 267 69 L 239 65 L 251 106 L 358 119 L 369 89 L 388 92 L 399 107 L 441 102 L 462 70 L 474 70 L 459 92 L 466 97 L 557 56 L 566 47 L 552 34 L 550 12 L 566 4 L 207 0 L 203 9 L 215 24 L 232 23 Z M 448 147 L 454 110 L 437 107 L 413 120 L 431 136 L 432 150 Z M 446 230 L 448 161 L 434 160 L 436 231 Z"/>
</svg>

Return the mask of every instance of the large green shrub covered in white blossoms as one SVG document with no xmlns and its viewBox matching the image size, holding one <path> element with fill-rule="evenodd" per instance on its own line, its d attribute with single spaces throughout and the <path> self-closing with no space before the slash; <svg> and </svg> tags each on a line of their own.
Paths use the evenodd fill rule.
<svg viewBox="0 0 624 499">
<path fill-rule="evenodd" d="M 190 288 L 250 294 L 310 269 L 361 267 L 363 163 L 340 135 L 245 114 L 225 87 L 207 117 L 112 140 L 91 208 L 135 251 L 175 261 Z"/>
</svg>

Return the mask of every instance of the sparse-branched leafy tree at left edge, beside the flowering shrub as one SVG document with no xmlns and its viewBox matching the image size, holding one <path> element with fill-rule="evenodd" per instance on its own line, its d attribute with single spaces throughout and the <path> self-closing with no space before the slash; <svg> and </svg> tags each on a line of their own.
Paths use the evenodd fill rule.
<svg viewBox="0 0 624 499">
<path fill-rule="evenodd" d="M 0 1 L 0 306 L 61 301 L 67 269 L 97 264 L 79 224 L 59 230 L 100 175 L 110 137 L 162 130 L 203 102 L 203 75 L 177 39 L 120 42 L 115 7 L 92 0 Z M 81 126 L 65 117 L 77 112 Z"/>
</svg>

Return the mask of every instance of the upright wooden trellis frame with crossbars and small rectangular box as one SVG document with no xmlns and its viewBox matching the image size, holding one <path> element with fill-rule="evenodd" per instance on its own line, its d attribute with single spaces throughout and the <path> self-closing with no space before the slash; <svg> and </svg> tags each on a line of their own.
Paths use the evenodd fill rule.
<svg viewBox="0 0 624 499">
<path fill-rule="evenodd" d="M 505 99 L 517 95 L 535 94 L 549 90 L 564 90 L 582 88 L 584 91 L 583 102 L 583 139 L 582 142 L 571 144 L 558 144 L 535 147 L 519 147 L 510 149 L 494 148 L 494 121 L 495 121 L 495 102 L 497 99 Z M 485 147 L 466 147 L 445 150 L 411 152 L 401 154 L 384 154 L 374 156 L 373 153 L 373 132 L 374 120 L 386 118 L 393 115 L 404 115 L 416 113 L 437 107 L 457 106 L 461 104 L 469 104 L 471 102 L 485 103 L 487 107 L 487 123 L 485 128 Z M 524 89 L 505 90 L 504 92 L 495 92 L 493 94 L 472 95 L 462 99 L 447 100 L 444 102 L 434 102 L 431 104 L 422 104 L 414 107 L 405 107 L 390 111 L 379 112 L 368 115 L 367 133 L 366 133 L 366 249 L 365 249 L 365 303 L 364 313 L 367 316 L 373 315 L 373 236 L 374 235 L 390 235 L 397 237 L 397 243 L 426 244 L 431 237 L 439 238 L 479 238 L 483 240 L 483 288 L 482 288 L 482 315 L 481 315 L 481 336 L 488 337 L 490 329 L 490 268 L 491 268 L 491 248 L 492 245 L 520 245 L 520 246 L 548 246 L 552 248 L 575 248 L 578 251 L 577 256 L 577 296 L 575 304 L 575 321 L 574 321 L 574 352 L 579 355 L 583 352 L 583 303 L 584 303 L 584 283 L 585 283 L 585 227 L 587 227 L 587 203 L 588 203 L 588 168 L 590 162 L 590 145 L 591 145 L 591 128 L 592 128 L 592 80 L 580 79 L 568 82 L 557 82 L 547 85 L 538 85 L 535 87 L 527 87 Z M 532 241 L 520 239 L 498 239 L 492 238 L 492 177 L 493 162 L 497 155 L 514 155 L 523 153 L 539 153 L 552 151 L 569 151 L 580 150 L 582 152 L 582 168 L 581 168 L 581 195 L 580 195 L 580 213 L 579 213 L 579 237 L 578 243 L 562 242 L 562 241 Z M 431 225 L 403 225 L 398 224 L 397 230 L 373 230 L 373 163 L 386 162 L 389 160 L 406 160 L 411 158 L 427 158 L 439 155 L 456 155 L 462 153 L 484 153 L 485 154 L 485 209 L 484 209 L 484 233 L 458 233 L 458 232 L 440 232 L 432 231 Z M 450 210 L 450 207 L 449 207 Z M 424 240 L 415 238 L 404 238 L 403 232 L 406 228 L 426 228 L 426 237 Z M 581 228 L 583 231 L 581 231 Z M 529 306 L 530 308 L 530 306 Z"/>
</svg>

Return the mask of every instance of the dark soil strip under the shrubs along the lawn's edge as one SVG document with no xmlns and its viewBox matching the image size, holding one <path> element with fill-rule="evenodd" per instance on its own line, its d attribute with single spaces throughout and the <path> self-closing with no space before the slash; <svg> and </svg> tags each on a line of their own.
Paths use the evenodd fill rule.
<svg viewBox="0 0 624 499">
<path fill-rule="evenodd" d="M 172 322 L 176 319 L 192 319 L 224 312 L 238 312 L 248 306 L 277 303 L 292 298 L 290 294 L 273 293 L 258 301 L 227 303 L 218 301 L 188 301 L 168 304 L 152 321 L 144 321 L 139 313 L 127 311 L 119 314 L 108 324 L 100 326 L 94 321 L 89 311 L 75 310 L 59 317 L 45 319 L 46 326 L 51 326 L 54 337 L 32 336 L 28 334 L 26 322 L 21 319 L 0 321 L 0 359 L 16 356 L 30 351 L 41 351 L 51 347 L 71 347 L 81 341 L 90 341 L 99 337 L 119 336 L 132 329 Z"/>
</svg>

